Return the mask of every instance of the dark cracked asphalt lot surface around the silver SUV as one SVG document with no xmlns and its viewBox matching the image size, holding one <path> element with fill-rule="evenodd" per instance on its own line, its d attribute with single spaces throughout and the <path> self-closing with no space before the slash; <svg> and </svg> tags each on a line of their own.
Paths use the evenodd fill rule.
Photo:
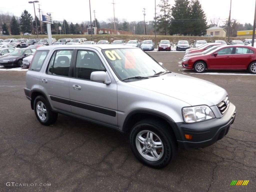
<svg viewBox="0 0 256 192">
<path fill-rule="evenodd" d="M 184 52 L 148 52 L 164 67 L 216 83 L 237 107 L 229 133 L 206 148 L 179 150 L 157 170 L 132 154 L 128 137 L 59 115 L 41 125 L 26 99 L 26 71 L 0 71 L 0 191 L 255 191 L 256 76 L 245 71 L 183 70 Z M 169 85 L 172 87 L 172 84 Z M 187 82 L 186 86 L 196 86 Z M 247 186 L 230 186 L 249 180 Z M 51 186 L 6 186 L 48 183 Z"/>
</svg>

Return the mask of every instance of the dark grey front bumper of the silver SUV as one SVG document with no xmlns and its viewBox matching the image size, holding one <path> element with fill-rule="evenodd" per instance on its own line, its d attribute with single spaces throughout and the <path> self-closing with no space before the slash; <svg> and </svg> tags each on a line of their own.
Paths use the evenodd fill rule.
<svg viewBox="0 0 256 192">
<path fill-rule="evenodd" d="M 236 117 L 236 107 L 230 103 L 229 109 L 222 118 L 210 119 L 197 123 L 176 123 L 175 135 L 179 147 L 195 149 L 207 147 L 222 139 L 229 131 L 230 125 Z M 192 135 L 191 140 L 185 138 L 185 134 Z"/>
</svg>

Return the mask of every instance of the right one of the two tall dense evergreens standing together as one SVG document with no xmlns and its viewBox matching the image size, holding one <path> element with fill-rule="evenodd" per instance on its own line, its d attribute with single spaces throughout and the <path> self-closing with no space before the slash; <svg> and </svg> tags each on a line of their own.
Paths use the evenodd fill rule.
<svg viewBox="0 0 256 192">
<path fill-rule="evenodd" d="M 191 35 L 200 36 L 207 29 L 207 19 L 199 0 L 192 0 L 190 4 L 190 28 Z"/>
</svg>

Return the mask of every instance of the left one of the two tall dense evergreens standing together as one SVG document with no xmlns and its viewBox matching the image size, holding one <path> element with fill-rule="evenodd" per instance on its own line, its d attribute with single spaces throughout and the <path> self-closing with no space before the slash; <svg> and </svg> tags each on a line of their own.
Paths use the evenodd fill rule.
<svg viewBox="0 0 256 192">
<path fill-rule="evenodd" d="M 188 0 L 175 0 L 172 10 L 172 19 L 170 26 L 170 34 L 187 35 L 191 31 L 190 25 L 190 6 Z"/>
</svg>

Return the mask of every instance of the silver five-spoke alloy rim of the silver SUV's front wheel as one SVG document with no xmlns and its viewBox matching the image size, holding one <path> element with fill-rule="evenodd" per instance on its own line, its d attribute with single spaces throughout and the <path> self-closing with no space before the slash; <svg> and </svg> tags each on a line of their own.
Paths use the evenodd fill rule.
<svg viewBox="0 0 256 192">
<path fill-rule="evenodd" d="M 164 146 L 161 139 L 152 131 L 143 130 L 136 136 L 136 147 L 138 152 L 149 161 L 161 159 Z"/>
</svg>

